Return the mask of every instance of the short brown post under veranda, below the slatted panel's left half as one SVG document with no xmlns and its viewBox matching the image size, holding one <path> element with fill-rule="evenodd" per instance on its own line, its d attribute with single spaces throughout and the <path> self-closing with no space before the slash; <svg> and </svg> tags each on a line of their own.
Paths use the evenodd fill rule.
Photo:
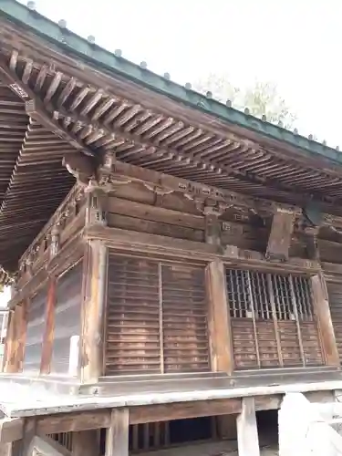
<svg viewBox="0 0 342 456">
<path fill-rule="evenodd" d="M 113 409 L 106 436 L 106 456 L 129 456 L 129 409 Z"/>
</svg>

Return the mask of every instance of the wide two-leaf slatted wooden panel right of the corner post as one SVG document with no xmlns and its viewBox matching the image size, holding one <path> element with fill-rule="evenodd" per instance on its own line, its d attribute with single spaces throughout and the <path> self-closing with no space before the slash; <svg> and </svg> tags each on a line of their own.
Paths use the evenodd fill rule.
<svg viewBox="0 0 342 456">
<path fill-rule="evenodd" d="M 109 254 L 106 375 L 208 369 L 204 269 Z"/>
</svg>

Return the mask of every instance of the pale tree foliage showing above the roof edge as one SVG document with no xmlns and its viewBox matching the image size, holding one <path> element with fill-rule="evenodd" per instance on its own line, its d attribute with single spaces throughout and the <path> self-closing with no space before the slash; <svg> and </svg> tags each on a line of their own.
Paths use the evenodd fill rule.
<svg viewBox="0 0 342 456">
<path fill-rule="evenodd" d="M 206 78 L 199 79 L 193 89 L 204 94 L 210 91 L 212 98 L 223 103 L 229 99 L 233 108 L 248 108 L 253 116 L 266 116 L 269 122 L 282 122 L 288 129 L 293 127 L 296 119 L 273 82 L 255 81 L 253 85 L 242 89 L 235 87 L 226 75 L 210 73 Z"/>
</svg>

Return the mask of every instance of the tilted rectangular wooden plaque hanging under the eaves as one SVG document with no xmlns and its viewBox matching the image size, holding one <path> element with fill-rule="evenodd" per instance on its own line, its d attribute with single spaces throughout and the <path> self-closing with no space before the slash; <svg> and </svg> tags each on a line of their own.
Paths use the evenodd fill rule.
<svg viewBox="0 0 342 456">
<path fill-rule="evenodd" d="M 267 259 L 280 261 L 288 260 L 294 223 L 294 212 L 282 208 L 276 209 L 266 249 Z"/>
</svg>

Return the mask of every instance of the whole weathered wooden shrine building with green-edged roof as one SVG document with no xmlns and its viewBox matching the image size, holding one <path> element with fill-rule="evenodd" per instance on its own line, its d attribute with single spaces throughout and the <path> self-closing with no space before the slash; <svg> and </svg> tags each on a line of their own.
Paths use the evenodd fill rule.
<svg viewBox="0 0 342 456">
<path fill-rule="evenodd" d="M 15 0 L 0 264 L 14 456 L 254 456 L 286 391 L 342 389 L 341 153 Z"/>
</svg>

